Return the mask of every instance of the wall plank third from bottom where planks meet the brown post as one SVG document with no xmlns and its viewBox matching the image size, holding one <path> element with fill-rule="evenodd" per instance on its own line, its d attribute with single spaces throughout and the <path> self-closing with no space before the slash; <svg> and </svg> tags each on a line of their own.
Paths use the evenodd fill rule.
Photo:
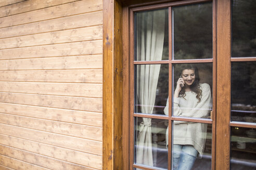
<svg viewBox="0 0 256 170">
<path fill-rule="evenodd" d="M 46 131 L 102 141 L 101 127 L 93 127 L 88 125 L 72 124 L 52 120 L 27 118 L 22 116 L 2 114 L 1 112 L 0 117 L 0 123 L 4 124 L 10 124 L 14 126 L 27 127 L 29 129 L 35 129 L 39 131 Z"/>
</svg>

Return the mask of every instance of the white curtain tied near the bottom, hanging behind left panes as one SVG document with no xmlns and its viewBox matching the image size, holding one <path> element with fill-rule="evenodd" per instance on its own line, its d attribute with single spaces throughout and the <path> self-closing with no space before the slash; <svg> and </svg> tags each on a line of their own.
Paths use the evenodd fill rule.
<svg viewBox="0 0 256 170">
<path fill-rule="evenodd" d="M 162 59 L 164 40 L 164 10 L 138 13 L 137 15 L 137 60 Z M 152 114 L 160 64 L 137 66 L 137 95 L 144 114 Z M 167 87 L 168 88 L 168 87 Z M 153 166 L 151 119 L 143 118 L 137 140 L 137 163 Z"/>
</svg>

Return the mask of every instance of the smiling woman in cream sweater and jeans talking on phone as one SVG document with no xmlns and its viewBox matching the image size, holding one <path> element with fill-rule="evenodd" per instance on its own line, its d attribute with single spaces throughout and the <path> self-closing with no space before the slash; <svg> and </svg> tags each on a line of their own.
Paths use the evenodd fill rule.
<svg viewBox="0 0 256 170">
<path fill-rule="evenodd" d="M 173 116 L 208 118 L 211 110 L 210 86 L 199 83 L 197 67 L 191 64 L 182 66 L 173 95 Z M 169 114 L 168 102 L 164 108 L 165 115 Z M 174 121 L 173 169 L 186 170 L 193 167 L 197 154 L 203 153 L 206 132 L 206 123 Z"/>
</svg>

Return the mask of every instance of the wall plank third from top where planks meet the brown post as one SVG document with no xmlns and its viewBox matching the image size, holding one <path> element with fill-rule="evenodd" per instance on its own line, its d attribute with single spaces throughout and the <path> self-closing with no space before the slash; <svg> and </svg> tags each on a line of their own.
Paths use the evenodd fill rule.
<svg viewBox="0 0 256 170">
<path fill-rule="evenodd" d="M 102 39 L 102 25 L 0 39 L 0 49 Z"/>
</svg>

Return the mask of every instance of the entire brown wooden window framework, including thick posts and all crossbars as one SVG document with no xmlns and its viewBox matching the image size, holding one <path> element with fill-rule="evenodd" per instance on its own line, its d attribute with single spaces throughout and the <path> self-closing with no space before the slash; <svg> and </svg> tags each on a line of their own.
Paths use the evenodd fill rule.
<svg viewBox="0 0 256 170">
<path fill-rule="evenodd" d="M 181 3 L 190 4 L 209 1 L 171 2 L 166 0 L 156 2 L 137 0 L 137 2 L 129 2 L 125 0 L 104 0 L 103 2 L 103 169 L 133 169 L 131 166 L 133 165 L 133 158 L 130 158 L 133 148 L 129 147 L 129 143 L 133 140 L 133 137 L 130 138 L 129 135 L 133 133 L 133 127 L 130 126 L 130 123 L 133 122 L 131 117 L 139 117 L 140 115 L 131 114 L 130 99 L 132 97 L 130 91 L 133 88 L 133 83 L 130 82 L 130 78 L 133 75 L 134 64 L 145 64 L 145 62 L 133 61 L 131 57 L 133 36 L 130 33 L 133 31 L 133 24 L 131 24 L 133 22 L 130 18 L 133 17 L 134 11 L 175 6 L 175 4 L 180 5 Z M 195 119 L 195 121 L 212 123 L 212 169 L 229 169 L 231 126 L 256 128 L 255 123 L 231 121 L 231 63 L 256 61 L 256 58 L 231 57 L 231 0 L 214 0 L 212 2 L 213 59 L 207 60 L 213 63 L 213 80 L 215 83 L 213 83 L 212 96 L 214 109 L 212 122 L 209 122 L 211 120 L 201 119 Z M 171 13 L 169 13 L 170 15 Z M 171 19 L 171 17 L 169 18 Z M 169 38 L 170 42 L 171 36 Z M 169 51 L 172 51 L 171 46 Z M 171 52 L 169 55 L 171 55 Z M 169 69 L 172 69 L 173 63 L 186 63 L 187 61 L 172 61 L 171 56 L 169 56 L 169 61 L 149 63 L 160 64 L 165 62 L 169 64 Z M 195 61 L 191 60 L 189 62 Z M 199 62 L 206 62 L 206 60 Z M 171 71 L 169 70 L 170 73 Z M 171 88 L 170 83 L 171 77 L 169 78 L 169 87 Z M 169 90 L 170 97 L 171 92 Z M 171 102 L 169 105 L 169 108 L 171 108 Z M 143 116 L 145 117 L 145 115 Z M 158 118 L 151 115 L 146 116 Z M 160 116 L 159 118 L 162 119 L 163 117 Z M 190 118 L 171 116 L 165 118 L 168 120 L 194 121 Z M 171 127 L 170 123 L 169 126 Z M 171 141 L 171 135 L 169 135 L 169 140 Z M 171 150 L 170 147 L 169 145 L 169 150 Z M 169 152 L 169 160 L 170 158 L 171 152 Z"/>
</svg>

